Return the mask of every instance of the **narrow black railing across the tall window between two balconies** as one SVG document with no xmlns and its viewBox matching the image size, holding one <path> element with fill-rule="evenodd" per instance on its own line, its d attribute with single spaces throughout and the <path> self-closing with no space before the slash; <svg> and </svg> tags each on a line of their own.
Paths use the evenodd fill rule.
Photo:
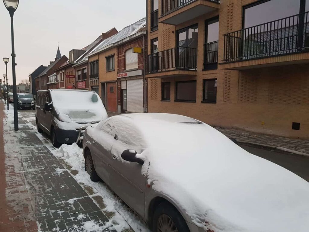
<svg viewBox="0 0 309 232">
<path fill-rule="evenodd" d="M 211 70 L 218 68 L 218 41 L 204 44 L 204 69 Z"/>
</svg>

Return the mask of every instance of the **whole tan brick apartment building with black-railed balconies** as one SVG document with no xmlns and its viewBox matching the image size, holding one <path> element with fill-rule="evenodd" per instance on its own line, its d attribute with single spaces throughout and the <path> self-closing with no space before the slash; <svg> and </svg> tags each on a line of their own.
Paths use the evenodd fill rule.
<svg viewBox="0 0 309 232">
<path fill-rule="evenodd" d="M 148 112 L 309 138 L 309 0 L 148 0 Z"/>
</svg>

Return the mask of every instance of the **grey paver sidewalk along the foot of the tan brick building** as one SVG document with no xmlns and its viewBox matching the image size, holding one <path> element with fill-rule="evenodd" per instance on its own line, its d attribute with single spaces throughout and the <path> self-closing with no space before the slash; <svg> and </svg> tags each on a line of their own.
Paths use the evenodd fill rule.
<svg viewBox="0 0 309 232">
<path fill-rule="evenodd" d="M 234 138 L 241 143 L 277 148 L 283 151 L 309 156 L 309 140 L 290 139 L 282 136 L 263 135 L 220 127 L 216 127 L 216 129 L 227 137 Z"/>
</svg>

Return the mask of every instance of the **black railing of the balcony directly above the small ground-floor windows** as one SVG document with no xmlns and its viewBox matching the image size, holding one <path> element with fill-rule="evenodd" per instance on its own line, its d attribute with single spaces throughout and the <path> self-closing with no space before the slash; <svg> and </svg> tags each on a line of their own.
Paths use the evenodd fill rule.
<svg viewBox="0 0 309 232">
<path fill-rule="evenodd" d="M 148 55 L 148 73 L 196 69 L 197 49 L 176 47 Z"/>
</svg>

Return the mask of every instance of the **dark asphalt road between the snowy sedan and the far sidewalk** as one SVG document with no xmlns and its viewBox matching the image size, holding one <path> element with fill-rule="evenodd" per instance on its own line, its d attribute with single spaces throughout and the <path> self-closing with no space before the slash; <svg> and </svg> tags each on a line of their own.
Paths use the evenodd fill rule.
<svg viewBox="0 0 309 232">
<path fill-rule="evenodd" d="M 309 157 L 251 144 L 239 145 L 246 151 L 280 165 L 309 182 Z"/>
</svg>

